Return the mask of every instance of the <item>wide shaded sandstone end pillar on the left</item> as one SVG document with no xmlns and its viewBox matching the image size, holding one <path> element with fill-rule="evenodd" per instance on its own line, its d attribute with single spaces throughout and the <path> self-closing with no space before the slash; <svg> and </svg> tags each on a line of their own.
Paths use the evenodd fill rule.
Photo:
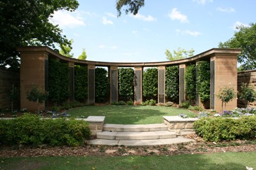
<svg viewBox="0 0 256 170">
<path fill-rule="evenodd" d="M 47 52 L 20 52 L 20 108 L 37 111 L 37 104 L 28 101 L 26 92 L 31 90 L 32 84 L 48 90 L 48 55 Z M 47 102 L 46 102 L 47 103 Z M 47 105 L 47 104 L 46 104 Z M 45 110 L 45 103 L 40 105 Z"/>
</svg>

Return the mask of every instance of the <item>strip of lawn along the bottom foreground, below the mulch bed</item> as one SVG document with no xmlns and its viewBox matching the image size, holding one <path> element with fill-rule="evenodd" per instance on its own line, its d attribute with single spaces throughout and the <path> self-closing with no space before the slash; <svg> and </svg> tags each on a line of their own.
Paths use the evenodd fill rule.
<svg viewBox="0 0 256 170">
<path fill-rule="evenodd" d="M 256 167 L 256 152 L 204 155 L 86 156 L 0 158 L 0 169 L 246 169 Z"/>
</svg>

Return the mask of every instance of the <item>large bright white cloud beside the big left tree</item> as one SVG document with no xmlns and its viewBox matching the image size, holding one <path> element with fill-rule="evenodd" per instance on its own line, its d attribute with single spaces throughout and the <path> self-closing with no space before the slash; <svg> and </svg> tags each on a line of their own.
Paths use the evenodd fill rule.
<svg viewBox="0 0 256 170">
<path fill-rule="evenodd" d="M 84 18 L 79 15 L 79 12 L 68 12 L 68 11 L 54 11 L 53 17 L 50 18 L 52 24 L 58 24 L 60 27 L 79 27 L 86 25 Z"/>
</svg>

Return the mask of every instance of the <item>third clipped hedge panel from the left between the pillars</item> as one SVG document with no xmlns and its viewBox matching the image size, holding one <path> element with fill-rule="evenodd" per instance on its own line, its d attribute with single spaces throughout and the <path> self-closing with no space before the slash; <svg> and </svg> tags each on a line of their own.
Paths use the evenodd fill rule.
<svg viewBox="0 0 256 170">
<path fill-rule="evenodd" d="M 95 69 L 95 102 L 108 101 L 109 89 L 108 71 L 102 67 L 97 67 Z"/>
</svg>

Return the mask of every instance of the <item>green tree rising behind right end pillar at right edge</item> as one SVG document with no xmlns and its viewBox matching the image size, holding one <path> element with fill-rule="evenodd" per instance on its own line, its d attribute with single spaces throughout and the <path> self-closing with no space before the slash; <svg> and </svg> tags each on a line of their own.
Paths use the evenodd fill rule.
<svg viewBox="0 0 256 170">
<path fill-rule="evenodd" d="M 256 69 L 256 24 L 251 23 L 249 27 L 241 25 L 239 31 L 224 43 L 220 48 L 241 48 L 242 53 L 238 55 L 237 61 L 241 63 L 240 69 Z"/>
</svg>

